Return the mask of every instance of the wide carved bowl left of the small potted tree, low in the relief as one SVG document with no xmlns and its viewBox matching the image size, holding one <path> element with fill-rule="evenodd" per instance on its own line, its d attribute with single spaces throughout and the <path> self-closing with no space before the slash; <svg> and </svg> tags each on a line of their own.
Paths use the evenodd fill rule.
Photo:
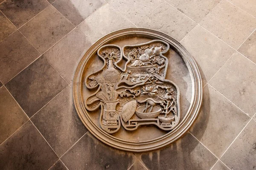
<svg viewBox="0 0 256 170">
<path fill-rule="evenodd" d="M 135 114 L 140 118 L 140 119 L 146 119 L 146 118 L 156 118 L 157 116 L 160 115 L 161 108 L 158 106 L 154 106 L 152 109 L 152 112 L 149 113 L 142 113 L 143 109 L 145 106 L 140 106 L 136 109 Z"/>
</svg>

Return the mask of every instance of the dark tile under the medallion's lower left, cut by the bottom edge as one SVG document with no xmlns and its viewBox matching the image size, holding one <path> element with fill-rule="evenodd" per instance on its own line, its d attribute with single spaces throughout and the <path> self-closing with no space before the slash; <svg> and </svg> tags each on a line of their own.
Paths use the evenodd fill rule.
<svg viewBox="0 0 256 170">
<path fill-rule="evenodd" d="M 133 159 L 132 153 L 113 149 L 100 142 L 90 132 L 61 157 L 69 170 L 127 170 L 133 164 Z"/>
</svg>

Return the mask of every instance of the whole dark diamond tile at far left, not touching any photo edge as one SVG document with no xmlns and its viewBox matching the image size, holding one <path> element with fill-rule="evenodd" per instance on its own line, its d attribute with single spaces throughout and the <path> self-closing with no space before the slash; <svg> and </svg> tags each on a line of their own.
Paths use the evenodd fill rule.
<svg viewBox="0 0 256 170">
<path fill-rule="evenodd" d="M 29 117 L 65 87 L 67 82 L 49 65 L 45 57 L 37 59 L 6 84 L 6 88 Z"/>
</svg>

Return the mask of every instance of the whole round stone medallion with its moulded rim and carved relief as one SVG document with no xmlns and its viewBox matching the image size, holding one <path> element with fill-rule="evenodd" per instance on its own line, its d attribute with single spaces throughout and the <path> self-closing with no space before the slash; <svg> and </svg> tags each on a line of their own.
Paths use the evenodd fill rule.
<svg viewBox="0 0 256 170">
<path fill-rule="evenodd" d="M 180 138 L 198 116 L 201 75 L 179 42 L 145 28 L 95 42 L 73 81 L 76 111 L 97 139 L 143 152 Z"/>
</svg>

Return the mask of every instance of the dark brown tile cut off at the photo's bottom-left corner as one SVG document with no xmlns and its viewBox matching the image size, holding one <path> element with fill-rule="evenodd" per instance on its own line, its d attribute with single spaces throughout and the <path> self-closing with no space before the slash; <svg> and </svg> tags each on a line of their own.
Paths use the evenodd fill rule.
<svg viewBox="0 0 256 170">
<path fill-rule="evenodd" d="M 1 170 L 47 170 L 58 160 L 30 121 L 1 144 L 0 151 Z"/>
</svg>

